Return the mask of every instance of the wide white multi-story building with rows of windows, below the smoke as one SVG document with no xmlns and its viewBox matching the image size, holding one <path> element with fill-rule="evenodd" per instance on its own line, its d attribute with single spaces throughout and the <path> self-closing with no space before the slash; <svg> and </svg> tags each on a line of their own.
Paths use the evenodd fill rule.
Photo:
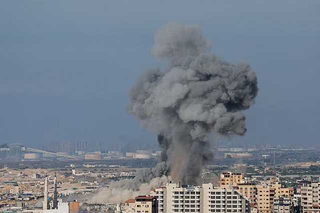
<svg viewBox="0 0 320 213">
<path fill-rule="evenodd" d="M 168 183 L 150 192 L 157 198 L 159 213 L 250 213 L 248 198 L 233 189 L 212 184 L 190 186 Z"/>
</svg>

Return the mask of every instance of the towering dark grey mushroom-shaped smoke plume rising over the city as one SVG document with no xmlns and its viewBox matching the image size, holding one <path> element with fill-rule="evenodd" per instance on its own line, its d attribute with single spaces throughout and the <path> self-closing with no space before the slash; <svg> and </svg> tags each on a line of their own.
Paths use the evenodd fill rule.
<svg viewBox="0 0 320 213">
<path fill-rule="evenodd" d="M 162 160 L 176 181 L 195 184 L 212 160 L 211 131 L 244 135 L 245 115 L 254 104 L 255 72 L 246 63 L 231 64 L 206 53 L 198 26 L 169 23 L 155 34 L 152 54 L 169 59 L 167 69 L 149 69 L 129 91 L 129 113 L 158 133 Z"/>
</svg>

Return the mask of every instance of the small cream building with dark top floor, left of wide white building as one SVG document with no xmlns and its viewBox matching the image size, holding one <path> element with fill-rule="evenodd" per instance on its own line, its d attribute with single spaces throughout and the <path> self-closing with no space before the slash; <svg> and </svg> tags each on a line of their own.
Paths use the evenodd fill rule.
<svg viewBox="0 0 320 213">
<path fill-rule="evenodd" d="M 135 197 L 134 213 L 157 213 L 156 197 Z"/>
</svg>

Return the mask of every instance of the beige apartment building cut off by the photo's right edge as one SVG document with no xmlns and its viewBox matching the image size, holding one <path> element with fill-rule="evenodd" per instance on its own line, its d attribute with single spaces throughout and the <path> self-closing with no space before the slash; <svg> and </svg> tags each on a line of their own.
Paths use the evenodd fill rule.
<svg viewBox="0 0 320 213">
<path fill-rule="evenodd" d="M 311 183 L 301 187 L 301 212 L 320 213 L 320 183 Z"/>
</svg>

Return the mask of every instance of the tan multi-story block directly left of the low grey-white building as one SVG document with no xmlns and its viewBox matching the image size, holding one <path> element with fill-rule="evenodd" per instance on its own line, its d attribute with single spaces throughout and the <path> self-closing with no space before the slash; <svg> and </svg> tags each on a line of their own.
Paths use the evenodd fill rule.
<svg viewBox="0 0 320 213">
<path fill-rule="evenodd" d="M 262 188 L 257 185 L 256 204 L 259 213 L 272 213 L 274 188 Z"/>
</svg>

